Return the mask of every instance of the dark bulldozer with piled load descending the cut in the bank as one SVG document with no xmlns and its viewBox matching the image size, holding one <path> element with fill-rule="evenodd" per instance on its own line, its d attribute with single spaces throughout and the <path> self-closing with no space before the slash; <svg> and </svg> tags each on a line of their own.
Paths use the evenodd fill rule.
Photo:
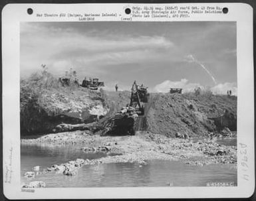
<svg viewBox="0 0 256 201">
<path fill-rule="evenodd" d="M 144 115 L 144 103 L 148 103 L 149 96 L 147 88 L 134 81 L 130 104 L 106 121 L 101 135 L 135 135 L 136 120 Z"/>
</svg>

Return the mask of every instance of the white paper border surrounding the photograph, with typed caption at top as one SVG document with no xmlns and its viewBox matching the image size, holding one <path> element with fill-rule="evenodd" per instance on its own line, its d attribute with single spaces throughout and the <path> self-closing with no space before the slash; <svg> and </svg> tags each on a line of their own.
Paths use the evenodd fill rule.
<svg viewBox="0 0 256 201">
<path fill-rule="evenodd" d="M 126 15 L 124 9 L 148 6 L 219 6 L 227 7 L 223 15 L 191 15 L 185 19 L 148 18 L 134 21 L 235 21 L 237 23 L 237 186 L 225 187 L 134 187 L 134 188 L 35 188 L 21 191 L 21 149 L 19 117 L 21 22 L 77 21 L 68 18 L 37 18 L 28 15 L 32 8 L 39 13 L 102 13 L 113 11 Z M 96 21 L 120 21 L 100 17 Z M 88 22 L 90 23 L 90 22 Z M 9 4 L 2 11 L 3 56 L 3 190 L 9 199 L 49 198 L 248 198 L 255 189 L 254 157 L 254 86 L 253 86 L 253 8 L 245 3 L 174 3 L 174 4 Z M 247 160 L 246 160 L 247 159 Z"/>
</svg>

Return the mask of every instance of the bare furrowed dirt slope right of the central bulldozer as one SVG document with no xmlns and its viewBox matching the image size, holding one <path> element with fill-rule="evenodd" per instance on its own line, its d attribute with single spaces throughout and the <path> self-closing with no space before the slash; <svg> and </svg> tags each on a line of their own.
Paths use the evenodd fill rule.
<svg viewBox="0 0 256 201">
<path fill-rule="evenodd" d="M 175 137 L 176 133 L 190 137 L 217 131 L 208 117 L 222 115 L 225 110 L 235 116 L 237 98 L 227 96 L 194 96 L 193 94 L 150 94 L 152 99 L 146 115 L 147 130 Z"/>
</svg>

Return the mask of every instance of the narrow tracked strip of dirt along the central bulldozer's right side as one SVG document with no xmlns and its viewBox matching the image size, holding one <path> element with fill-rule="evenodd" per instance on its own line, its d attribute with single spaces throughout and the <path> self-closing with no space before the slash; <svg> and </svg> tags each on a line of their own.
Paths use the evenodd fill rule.
<svg viewBox="0 0 256 201">
<path fill-rule="evenodd" d="M 148 122 L 147 122 L 147 115 L 148 111 L 150 110 L 150 107 L 154 101 L 154 95 L 150 94 L 148 103 L 144 103 L 144 115 L 139 116 L 136 119 L 136 126 L 135 126 L 135 131 L 146 131 L 148 127 Z"/>
</svg>

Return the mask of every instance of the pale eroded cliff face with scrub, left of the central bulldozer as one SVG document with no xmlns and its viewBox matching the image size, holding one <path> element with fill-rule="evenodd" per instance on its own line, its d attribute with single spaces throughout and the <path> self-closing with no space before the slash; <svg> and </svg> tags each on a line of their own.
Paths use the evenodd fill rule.
<svg viewBox="0 0 256 201">
<path fill-rule="evenodd" d="M 52 133 L 61 123 L 91 123 L 110 110 L 103 92 L 61 86 L 51 76 L 21 81 L 21 135 Z"/>
</svg>

